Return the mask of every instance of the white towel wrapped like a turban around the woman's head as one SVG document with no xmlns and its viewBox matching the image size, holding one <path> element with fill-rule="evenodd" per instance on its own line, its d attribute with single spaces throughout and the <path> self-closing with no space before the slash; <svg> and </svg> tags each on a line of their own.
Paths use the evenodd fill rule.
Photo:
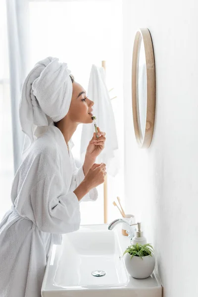
<svg viewBox="0 0 198 297">
<path fill-rule="evenodd" d="M 19 120 L 25 133 L 22 159 L 35 137 L 41 136 L 51 121 L 57 122 L 67 114 L 73 91 L 70 73 L 67 63 L 49 56 L 27 75 L 19 103 Z"/>
</svg>

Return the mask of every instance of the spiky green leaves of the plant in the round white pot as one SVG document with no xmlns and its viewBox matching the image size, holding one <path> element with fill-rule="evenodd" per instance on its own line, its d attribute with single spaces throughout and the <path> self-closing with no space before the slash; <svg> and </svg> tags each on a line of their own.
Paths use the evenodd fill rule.
<svg viewBox="0 0 198 297">
<path fill-rule="evenodd" d="M 127 247 L 127 249 L 123 253 L 123 256 L 128 252 L 131 255 L 131 259 L 134 256 L 141 257 L 141 259 L 143 259 L 142 257 L 149 255 L 152 257 L 152 251 L 154 251 L 154 249 L 150 244 L 139 245 L 137 243 L 136 245 Z"/>
</svg>

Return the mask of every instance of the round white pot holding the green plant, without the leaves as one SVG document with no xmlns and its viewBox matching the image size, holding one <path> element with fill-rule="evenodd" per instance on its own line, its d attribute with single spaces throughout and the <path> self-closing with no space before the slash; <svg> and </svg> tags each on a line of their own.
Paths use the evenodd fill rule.
<svg viewBox="0 0 198 297">
<path fill-rule="evenodd" d="M 125 255 L 125 265 L 130 276 L 137 279 L 144 279 L 151 275 L 155 266 L 154 254 L 152 256 L 138 257 L 127 253 Z"/>
</svg>

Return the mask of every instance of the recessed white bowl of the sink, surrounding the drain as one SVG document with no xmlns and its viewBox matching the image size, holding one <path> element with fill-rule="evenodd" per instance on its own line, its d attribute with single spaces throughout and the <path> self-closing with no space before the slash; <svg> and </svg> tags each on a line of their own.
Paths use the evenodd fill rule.
<svg viewBox="0 0 198 297">
<path fill-rule="evenodd" d="M 66 234 L 59 249 L 54 285 L 67 289 L 79 287 L 123 286 L 129 282 L 116 232 L 81 227 Z M 96 277 L 93 271 L 104 271 Z"/>
</svg>

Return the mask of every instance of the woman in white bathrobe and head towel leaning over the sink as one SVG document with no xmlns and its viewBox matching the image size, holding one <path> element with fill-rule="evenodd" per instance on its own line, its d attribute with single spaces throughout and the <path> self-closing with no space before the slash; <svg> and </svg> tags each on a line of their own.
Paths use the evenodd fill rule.
<svg viewBox="0 0 198 297">
<path fill-rule="evenodd" d="M 41 297 L 52 244 L 80 226 L 79 201 L 96 200 L 105 164 L 95 164 L 105 133 L 94 133 L 77 169 L 71 137 L 79 123 L 92 123 L 94 102 L 66 63 L 48 57 L 22 87 L 19 118 L 23 161 L 11 189 L 12 207 L 0 223 L 0 297 Z"/>
</svg>

